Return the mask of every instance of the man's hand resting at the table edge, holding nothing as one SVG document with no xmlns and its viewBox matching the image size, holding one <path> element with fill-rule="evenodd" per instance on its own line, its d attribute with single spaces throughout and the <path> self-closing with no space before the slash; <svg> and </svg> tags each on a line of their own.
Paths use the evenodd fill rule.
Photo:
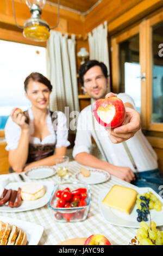
<svg viewBox="0 0 163 256">
<path fill-rule="evenodd" d="M 111 175 L 114 175 L 117 178 L 121 180 L 125 180 L 129 183 L 132 180 L 135 180 L 135 174 L 129 167 L 119 167 L 119 166 L 112 165 L 111 170 L 108 170 L 108 171 Z"/>
</svg>

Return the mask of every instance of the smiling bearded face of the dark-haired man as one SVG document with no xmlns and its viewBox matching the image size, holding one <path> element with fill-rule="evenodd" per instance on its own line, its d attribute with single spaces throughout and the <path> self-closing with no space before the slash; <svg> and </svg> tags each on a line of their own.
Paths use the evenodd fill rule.
<svg viewBox="0 0 163 256">
<path fill-rule="evenodd" d="M 84 75 L 84 92 L 93 100 L 102 99 L 108 93 L 109 78 L 106 78 L 100 66 L 93 66 Z"/>
</svg>

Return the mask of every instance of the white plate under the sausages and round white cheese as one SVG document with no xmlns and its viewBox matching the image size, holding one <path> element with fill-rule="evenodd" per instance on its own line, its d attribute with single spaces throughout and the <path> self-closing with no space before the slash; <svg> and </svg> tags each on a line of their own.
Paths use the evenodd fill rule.
<svg viewBox="0 0 163 256">
<path fill-rule="evenodd" d="M 11 182 L 5 188 L 9 189 L 11 188 L 12 190 L 18 190 L 18 187 L 22 187 L 23 185 L 27 184 L 29 182 Z M 17 208 L 10 208 L 7 205 L 0 206 L 0 212 L 20 212 L 20 211 L 28 211 L 28 210 L 33 210 L 40 208 L 44 206 L 45 204 L 48 203 L 49 198 L 51 197 L 51 193 L 54 188 L 54 183 L 53 182 L 41 182 L 45 188 L 45 194 L 43 197 L 33 200 L 33 201 L 27 201 L 27 200 L 22 200 L 22 204 L 17 207 Z"/>
</svg>

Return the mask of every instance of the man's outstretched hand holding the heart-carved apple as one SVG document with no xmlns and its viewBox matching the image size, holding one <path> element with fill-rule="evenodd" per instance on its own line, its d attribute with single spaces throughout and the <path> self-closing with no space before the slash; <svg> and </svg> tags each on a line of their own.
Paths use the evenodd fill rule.
<svg viewBox="0 0 163 256">
<path fill-rule="evenodd" d="M 106 94 L 105 97 L 115 96 L 112 93 Z M 123 124 L 114 129 L 107 129 L 108 136 L 112 143 L 121 143 L 127 141 L 140 130 L 140 114 L 137 112 L 130 103 L 124 103 L 126 106 L 126 118 Z"/>
</svg>

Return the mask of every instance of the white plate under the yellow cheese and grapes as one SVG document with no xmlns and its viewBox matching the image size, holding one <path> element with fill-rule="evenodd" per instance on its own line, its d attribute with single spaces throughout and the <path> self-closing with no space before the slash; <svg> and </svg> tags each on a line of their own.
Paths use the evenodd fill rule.
<svg viewBox="0 0 163 256">
<path fill-rule="evenodd" d="M 150 187 L 136 187 L 135 190 L 139 193 L 139 194 L 143 194 L 145 192 L 152 192 L 163 204 L 163 200 L 162 198 L 154 191 L 152 190 L 152 188 Z M 125 214 L 124 212 L 118 211 L 116 209 L 112 209 L 107 205 L 104 205 L 102 203 L 102 200 L 104 199 L 104 197 L 106 196 L 106 194 L 109 192 L 109 190 L 105 189 L 105 190 L 101 190 L 99 192 L 99 209 L 101 210 L 101 214 L 103 215 L 103 217 L 105 218 L 106 221 L 108 221 L 111 224 L 114 225 L 119 225 L 122 227 L 128 227 L 128 228 L 139 228 L 140 227 L 140 223 L 137 222 L 136 218 L 137 218 L 137 206 L 135 204 L 134 209 L 131 211 L 131 214 Z M 151 213 L 151 219 L 152 221 L 154 221 L 156 223 L 156 226 L 160 226 L 163 225 L 163 205 L 162 205 L 162 210 L 161 211 L 156 211 L 154 209 L 150 210 Z M 149 215 L 148 216 L 148 221 L 146 222 L 149 225 L 150 222 L 150 218 Z"/>
</svg>

